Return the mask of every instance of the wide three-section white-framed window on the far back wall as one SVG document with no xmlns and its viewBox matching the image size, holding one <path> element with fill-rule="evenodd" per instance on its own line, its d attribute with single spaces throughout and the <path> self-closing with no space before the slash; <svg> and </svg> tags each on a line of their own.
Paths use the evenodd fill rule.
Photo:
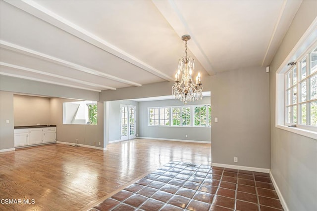
<svg viewBox="0 0 317 211">
<path fill-rule="evenodd" d="M 148 111 L 149 126 L 211 126 L 210 105 L 149 108 Z"/>
</svg>

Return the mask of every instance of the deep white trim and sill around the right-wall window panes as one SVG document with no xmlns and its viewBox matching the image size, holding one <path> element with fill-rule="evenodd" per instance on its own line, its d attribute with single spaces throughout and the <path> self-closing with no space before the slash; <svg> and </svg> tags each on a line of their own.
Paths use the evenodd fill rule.
<svg viewBox="0 0 317 211">
<path fill-rule="evenodd" d="M 297 61 L 299 58 L 302 58 L 302 56 L 308 50 L 312 50 L 316 44 L 317 18 L 315 18 L 311 26 L 297 42 L 275 73 L 275 127 L 313 139 L 317 139 L 317 131 L 302 127 L 288 127 L 285 125 L 285 73 L 289 70 L 289 67 L 287 67 L 289 62 Z"/>
</svg>

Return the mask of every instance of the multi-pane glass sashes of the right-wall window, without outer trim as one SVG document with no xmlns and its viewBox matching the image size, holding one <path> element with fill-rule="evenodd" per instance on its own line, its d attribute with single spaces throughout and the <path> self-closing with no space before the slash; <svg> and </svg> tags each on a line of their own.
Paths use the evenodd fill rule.
<svg viewBox="0 0 317 211">
<path fill-rule="evenodd" d="M 285 123 L 317 127 L 317 46 L 285 73 Z"/>
</svg>

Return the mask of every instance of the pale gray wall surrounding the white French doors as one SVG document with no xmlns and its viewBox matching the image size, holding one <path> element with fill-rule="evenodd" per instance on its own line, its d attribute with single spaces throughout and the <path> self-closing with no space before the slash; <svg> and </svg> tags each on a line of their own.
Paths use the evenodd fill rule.
<svg viewBox="0 0 317 211">
<path fill-rule="evenodd" d="M 107 104 L 108 115 L 108 127 L 107 133 L 109 135 L 108 141 L 115 141 L 121 139 L 121 125 L 120 125 L 120 105 L 134 105 L 136 106 L 136 134 L 139 133 L 138 121 L 138 102 L 132 100 L 116 100 L 116 101 L 109 101 Z"/>
</svg>

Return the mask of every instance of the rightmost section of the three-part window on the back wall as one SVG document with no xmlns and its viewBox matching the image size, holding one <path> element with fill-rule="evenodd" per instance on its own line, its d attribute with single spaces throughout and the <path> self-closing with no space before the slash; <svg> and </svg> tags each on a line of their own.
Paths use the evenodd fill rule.
<svg viewBox="0 0 317 211">
<path fill-rule="evenodd" d="M 194 107 L 195 126 L 211 126 L 211 106 Z"/>
</svg>

